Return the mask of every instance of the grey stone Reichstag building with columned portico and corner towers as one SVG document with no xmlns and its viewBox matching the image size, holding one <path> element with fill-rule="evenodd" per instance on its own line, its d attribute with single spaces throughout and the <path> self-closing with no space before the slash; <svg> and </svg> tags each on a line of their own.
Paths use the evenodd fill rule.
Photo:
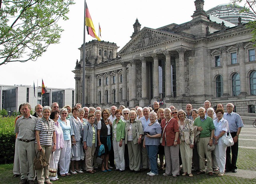
<svg viewBox="0 0 256 184">
<path fill-rule="evenodd" d="M 230 14 L 237 16 L 232 23 L 207 14 L 203 7 L 204 0 L 196 0 L 192 20 L 179 25 L 141 29 L 136 20 L 131 40 L 118 52 L 115 43 L 86 43 L 86 105 L 144 107 L 162 101 L 163 107 L 186 109 L 187 103 L 199 108 L 210 100 L 213 107 L 232 102 L 244 120 L 255 119 L 251 30 L 236 8 Z M 82 47 L 80 51 L 73 70 L 76 102 L 82 102 Z"/>
</svg>

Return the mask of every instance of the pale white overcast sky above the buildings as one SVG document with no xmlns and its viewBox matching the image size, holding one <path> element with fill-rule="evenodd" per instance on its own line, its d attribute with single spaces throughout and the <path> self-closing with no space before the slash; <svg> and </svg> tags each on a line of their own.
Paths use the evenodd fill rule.
<svg viewBox="0 0 256 184">
<path fill-rule="evenodd" d="M 84 0 L 75 0 L 70 6 L 69 20 L 58 24 L 65 30 L 59 44 L 48 47 L 37 61 L 8 63 L 0 66 L 0 85 L 44 85 L 50 88 L 75 88 L 74 67 L 80 59 L 78 50 L 83 43 Z M 184 23 L 192 19 L 196 10 L 194 0 L 87 0 L 87 6 L 98 34 L 98 23 L 102 30 L 101 40 L 114 42 L 124 47 L 134 32 L 136 18 L 143 27 L 158 28 L 171 23 Z M 230 0 L 205 0 L 204 10 Z M 86 35 L 86 42 L 92 40 Z"/>
</svg>

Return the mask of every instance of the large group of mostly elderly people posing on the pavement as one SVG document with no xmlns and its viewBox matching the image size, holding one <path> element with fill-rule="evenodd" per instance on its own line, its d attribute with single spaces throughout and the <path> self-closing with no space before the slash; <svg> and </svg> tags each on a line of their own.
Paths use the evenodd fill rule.
<svg viewBox="0 0 256 184">
<path fill-rule="evenodd" d="M 204 174 L 206 159 L 210 176 L 236 172 L 242 119 L 232 103 L 226 105 L 226 113 L 222 104 L 215 112 L 210 106 L 206 100 L 198 110 L 187 104 L 186 112 L 174 106 L 160 108 L 159 102 L 154 102 L 154 109 L 82 108 L 79 103 L 60 109 L 54 102 L 51 107 L 38 104 L 31 115 L 30 104 L 21 104 L 15 123 L 14 177 L 20 176 L 20 184 L 34 183 L 35 176 L 39 184 L 51 184 L 59 178 L 49 176 L 49 168 L 66 177 L 83 170 L 93 174 L 97 167 L 101 172 L 149 169 L 147 174 L 155 176 L 164 168 L 164 159 L 164 176 L 179 176 L 181 164 L 182 176 L 193 176 L 192 165 L 197 174 Z M 232 147 L 222 144 L 228 133 L 234 139 Z M 35 171 L 33 159 L 42 149 L 47 165 Z"/>
</svg>

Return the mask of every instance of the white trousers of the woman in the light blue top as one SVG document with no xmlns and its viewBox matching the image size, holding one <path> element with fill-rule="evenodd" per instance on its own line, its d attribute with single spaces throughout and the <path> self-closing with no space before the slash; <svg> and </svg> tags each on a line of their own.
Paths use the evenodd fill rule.
<svg viewBox="0 0 256 184">
<path fill-rule="evenodd" d="M 71 158 L 71 140 L 64 141 L 64 148 L 60 150 L 60 174 L 68 174 Z"/>
</svg>

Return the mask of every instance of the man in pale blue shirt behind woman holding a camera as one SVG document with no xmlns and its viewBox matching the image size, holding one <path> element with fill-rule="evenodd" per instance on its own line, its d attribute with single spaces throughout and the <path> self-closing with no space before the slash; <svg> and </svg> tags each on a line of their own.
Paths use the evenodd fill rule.
<svg viewBox="0 0 256 184">
<path fill-rule="evenodd" d="M 143 117 L 141 117 L 139 120 L 142 123 L 143 131 L 144 131 L 145 127 L 150 123 L 149 113 L 150 113 L 150 109 L 148 107 L 144 107 L 142 109 Z M 142 136 L 142 141 L 144 141 L 144 136 Z M 141 169 L 141 171 L 144 171 L 148 168 L 149 162 L 148 162 L 148 152 L 147 152 L 146 147 L 143 147 L 143 144 L 141 144 L 141 153 L 142 153 L 142 159 L 141 159 L 142 169 Z"/>
</svg>

